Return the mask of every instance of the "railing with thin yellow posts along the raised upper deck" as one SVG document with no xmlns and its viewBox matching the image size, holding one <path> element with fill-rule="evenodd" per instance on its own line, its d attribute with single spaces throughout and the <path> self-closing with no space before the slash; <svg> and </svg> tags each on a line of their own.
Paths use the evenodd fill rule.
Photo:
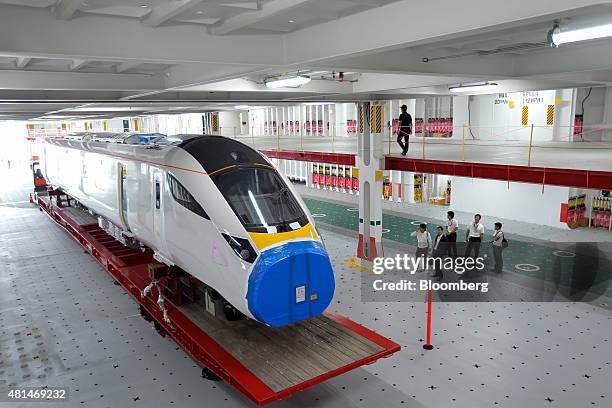
<svg viewBox="0 0 612 408">
<path fill-rule="evenodd" d="M 396 138 L 391 129 L 385 129 L 385 150 L 389 155 L 400 154 Z M 463 125 L 440 132 L 426 126 L 421 133 L 410 135 L 409 143 L 411 158 L 543 167 L 579 164 L 612 170 L 612 125 L 607 124 Z"/>
</svg>

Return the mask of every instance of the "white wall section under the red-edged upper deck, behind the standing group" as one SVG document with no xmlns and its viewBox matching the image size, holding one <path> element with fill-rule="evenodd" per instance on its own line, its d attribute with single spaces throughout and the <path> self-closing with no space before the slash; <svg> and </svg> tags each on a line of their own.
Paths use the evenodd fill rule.
<svg viewBox="0 0 612 408">
<path fill-rule="evenodd" d="M 451 208 L 457 211 L 495 214 L 501 218 L 567 228 L 559 222 L 561 203 L 567 203 L 569 187 L 508 183 L 498 180 L 452 178 Z M 492 226 L 496 220 L 484 219 Z"/>
</svg>

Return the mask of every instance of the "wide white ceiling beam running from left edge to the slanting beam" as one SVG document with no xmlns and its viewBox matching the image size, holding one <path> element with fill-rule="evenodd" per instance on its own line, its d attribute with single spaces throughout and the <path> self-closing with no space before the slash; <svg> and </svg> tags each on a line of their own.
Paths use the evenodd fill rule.
<svg viewBox="0 0 612 408">
<path fill-rule="evenodd" d="M 211 63 L 248 67 L 278 66 L 283 62 L 281 36 L 219 37 L 202 28 L 182 24 L 153 30 L 134 24 L 133 19 L 94 14 L 60 24 L 43 8 L 0 5 L 0 54 L 114 63 L 137 60 L 167 65 Z"/>
</svg>

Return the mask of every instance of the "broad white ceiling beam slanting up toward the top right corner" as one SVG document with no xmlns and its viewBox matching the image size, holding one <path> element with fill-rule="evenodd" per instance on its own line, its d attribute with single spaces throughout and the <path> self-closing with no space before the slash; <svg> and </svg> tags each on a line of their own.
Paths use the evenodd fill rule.
<svg viewBox="0 0 612 408">
<path fill-rule="evenodd" d="M 264 10 L 266 6 L 264 3 Z M 608 4 L 599 0 L 503 2 L 496 3 L 495 13 L 490 12 L 490 6 L 489 0 L 398 0 L 286 34 L 286 63 L 305 64 L 330 57 L 366 55 L 467 35 L 487 35 L 509 28 L 520 30 L 535 23 L 550 23 L 552 26 L 557 18 L 577 13 L 603 13 Z M 444 24 L 431 24 L 429 18 L 413 19 L 410 29 L 406 30 L 405 13 L 398 10 L 410 10 L 410 14 L 415 16 L 436 16 L 444 10 L 445 15 L 453 18 Z M 357 32 L 359 40 L 356 41 Z"/>
</svg>

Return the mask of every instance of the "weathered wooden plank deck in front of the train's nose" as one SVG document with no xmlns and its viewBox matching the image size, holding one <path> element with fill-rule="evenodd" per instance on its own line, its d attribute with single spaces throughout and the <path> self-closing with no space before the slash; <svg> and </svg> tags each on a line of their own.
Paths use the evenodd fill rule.
<svg viewBox="0 0 612 408">
<path fill-rule="evenodd" d="M 215 318 L 193 303 L 180 310 L 275 392 L 384 350 L 326 316 L 268 327 Z"/>
</svg>

